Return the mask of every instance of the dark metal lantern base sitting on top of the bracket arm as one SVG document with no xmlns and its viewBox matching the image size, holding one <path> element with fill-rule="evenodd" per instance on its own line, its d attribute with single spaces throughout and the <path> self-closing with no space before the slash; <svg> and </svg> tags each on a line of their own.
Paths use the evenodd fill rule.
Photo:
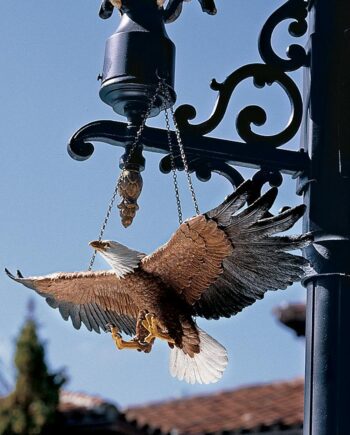
<svg viewBox="0 0 350 435">
<path fill-rule="evenodd" d="M 104 9 L 103 5 L 102 16 Z M 155 1 L 129 0 L 121 12 L 119 27 L 106 43 L 100 97 L 132 122 L 147 110 L 159 77 L 167 84 L 171 101 L 157 96 L 149 116 L 175 103 L 175 46 L 165 30 L 164 10 Z"/>
</svg>

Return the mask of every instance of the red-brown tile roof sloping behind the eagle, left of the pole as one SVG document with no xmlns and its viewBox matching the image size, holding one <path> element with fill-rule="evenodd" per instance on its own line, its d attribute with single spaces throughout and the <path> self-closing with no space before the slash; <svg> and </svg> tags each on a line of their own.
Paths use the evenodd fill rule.
<svg viewBox="0 0 350 435">
<path fill-rule="evenodd" d="M 257 385 L 208 396 L 130 408 L 127 420 L 167 433 L 203 434 L 259 427 L 301 427 L 303 389 L 300 380 Z"/>
</svg>

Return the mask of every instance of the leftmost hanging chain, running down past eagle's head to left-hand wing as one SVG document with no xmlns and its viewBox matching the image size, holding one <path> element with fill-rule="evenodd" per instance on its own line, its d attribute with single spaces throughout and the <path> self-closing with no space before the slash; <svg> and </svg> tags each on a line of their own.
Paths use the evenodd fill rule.
<svg viewBox="0 0 350 435">
<path fill-rule="evenodd" d="M 155 93 L 153 94 L 153 96 L 150 98 L 147 110 L 146 110 L 146 112 L 144 113 L 144 115 L 142 117 L 142 121 L 141 121 L 140 127 L 137 130 L 136 136 L 134 138 L 134 142 L 131 145 L 131 148 L 130 148 L 130 151 L 129 151 L 129 155 L 125 159 L 124 168 L 122 169 L 121 173 L 119 174 L 117 182 L 115 184 L 113 195 L 112 195 L 112 198 L 111 198 L 111 200 L 109 202 L 109 205 L 108 205 L 108 208 L 107 208 L 107 213 L 106 213 L 105 218 L 103 220 L 103 223 L 102 223 L 102 226 L 101 226 L 101 229 L 100 229 L 100 233 L 99 233 L 99 236 L 98 236 L 98 241 L 99 242 L 102 240 L 102 237 L 103 237 L 104 232 L 106 230 L 109 218 L 111 216 L 113 205 L 114 205 L 114 202 L 115 202 L 115 200 L 117 198 L 118 190 L 119 190 L 119 187 L 120 187 L 120 184 L 121 184 L 121 179 L 122 179 L 123 172 L 124 172 L 125 168 L 127 167 L 127 165 L 129 164 L 129 162 L 131 160 L 131 157 L 132 157 L 134 151 L 136 150 L 136 147 L 138 146 L 138 144 L 140 142 L 143 130 L 144 130 L 145 125 L 146 125 L 147 118 L 149 117 L 149 115 L 151 113 L 152 107 L 153 107 L 153 105 L 154 105 L 158 95 L 160 94 L 160 91 L 161 91 L 162 87 L 163 87 L 162 81 L 159 80 L 157 89 L 156 89 Z M 94 265 L 94 262 L 95 262 L 95 259 L 96 259 L 96 254 L 97 254 L 97 251 L 95 249 L 94 253 L 92 254 L 90 263 L 89 263 L 88 271 L 91 271 L 91 269 L 92 269 L 92 267 Z"/>
</svg>

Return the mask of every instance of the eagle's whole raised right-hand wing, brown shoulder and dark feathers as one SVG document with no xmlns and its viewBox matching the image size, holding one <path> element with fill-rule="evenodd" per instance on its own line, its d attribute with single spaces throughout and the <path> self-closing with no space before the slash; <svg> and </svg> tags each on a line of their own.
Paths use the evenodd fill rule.
<svg viewBox="0 0 350 435">
<path fill-rule="evenodd" d="M 241 209 L 253 183 L 244 182 L 219 207 L 194 217 L 167 244 L 142 260 L 142 268 L 169 283 L 207 319 L 229 317 L 262 299 L 267 290 L 285 289 L 305 274 L 308 261 L 286 251 L 300 249 L 310 234 L 274 237 L 303 215 L 300 205 L 266 217 L 277 189 Z"/>
</svg>

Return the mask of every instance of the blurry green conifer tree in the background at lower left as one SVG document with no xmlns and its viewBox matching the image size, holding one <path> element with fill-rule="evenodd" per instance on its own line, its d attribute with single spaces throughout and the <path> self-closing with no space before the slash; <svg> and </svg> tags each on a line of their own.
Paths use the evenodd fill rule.
<svg viewBox="0 0 350 435">
<path fill-rule="evenodd" d="M 50 373 L 36 323 L 28 320 L 17 340 L 16 388 L 0 402 L 0 435 L 52 433 L 58 422 L 61 373 Z M 51 428 L 51 429 L 50 429 Z"/>
</svg>

